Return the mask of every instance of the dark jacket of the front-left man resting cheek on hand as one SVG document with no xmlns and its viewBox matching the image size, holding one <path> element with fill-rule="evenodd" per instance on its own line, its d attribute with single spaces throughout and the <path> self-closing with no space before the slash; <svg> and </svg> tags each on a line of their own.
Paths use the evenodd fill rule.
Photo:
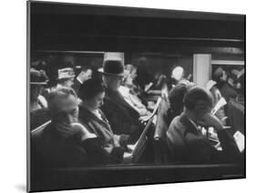
<svg viewBox="0 0 256 193">
<path fill-rule="evenodd" d="M 32 136 L 32 166 L 68 168 L 108 164 L 108 155 L 99 148 L 99 143 L 97 137 L 84 141 L 77 137 L 61 137 L 51 123 L 39 134 Z"/>
</svg>

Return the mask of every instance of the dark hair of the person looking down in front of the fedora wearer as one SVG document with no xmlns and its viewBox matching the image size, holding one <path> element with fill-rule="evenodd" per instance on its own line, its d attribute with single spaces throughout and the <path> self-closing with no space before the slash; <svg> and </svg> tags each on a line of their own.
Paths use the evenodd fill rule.
<svg viewBox="0 0 256 193">
<path fill-rule="evenodd" d="M 105 87 L 101 80 L 99 79 L 88 79 L 86 82 L 80 86 L 78 91 L 78 96 L 82 100 L 91 99 L 97 94 L 102 93 L 105 91 Z"/>
</svg>

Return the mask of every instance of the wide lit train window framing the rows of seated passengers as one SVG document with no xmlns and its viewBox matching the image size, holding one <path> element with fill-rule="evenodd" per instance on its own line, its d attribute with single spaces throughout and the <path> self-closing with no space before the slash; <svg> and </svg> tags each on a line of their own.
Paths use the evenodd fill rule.
<svg viewBox="0 0 256 193">
<path fill-rule="evenodd" d="M 223 133 L 219 131 L 220 128 L 230 127 L 228 123 L 231 120 L 226 121 L 230 113 L 228 109 L 212 109 L 217 112 L 214 114 L 219 118 L 218 121 L 210 114 L 202 114 L 202 119 L 197 118 L 201 112 L 210 112 L 208 109 L 212 104 L 206 103 L 200 107 L 200 114 L 195 107 L 197 97 L 202 97 L 201 100 L 206 102 L 210 99 L 206 90 L 212 89 L 207 88 L 207 85 L 205 90 L 197 91 L 199 94 L 196 95 L 199 96 L 196 98 L 194 94 L 188 95 L 187 99 L 185 97 L 190 89 L 197 86 L 197 78 L 193 77 L 194 57 L 151 52 L 36 51 L 30 66 L 31 98 L 37 97 L 31 100 L 32 138 L 42 136 L 42 133 L 50 135 L 48 132 L 51 130 L 57 131 L 60 138 L 72 138 L 72 129 L 87 130 L 84 134 L 87 160 L 81 165 L 83 167 L 233 162 L 239 155 L 235 150 L 233 155 L 225 153 L 218 137 L 219 132 Z M 200 60 L 199 57 L 197 61 Z M 204 61 L 204 56 L 202 58 Z M 211 60 L 211 63 L 214 62 Z M 242 69 L 243 66 L 214 64 L 212 77 L 220 77 L 225 72 L 229 74 L 229 78 L 234 73 L 238 77 L 241 76 Z M 200 68 L 198 70 L 203 73 Z M 214 80 L 219 81 L 216 78 Z M 238 83 L 238 79 L 232 81 L 234 92 L 237 89 L 234 84 Z M 215 86 L 217 85 L 216 83 Z M 218 86 L 217 89 L 220 88 Z M 67 110 L 61 107 L 61 104 L 65 106 L 68 102 L 62 101 L 62 95 L 67 92 L 62 87 L 70 88 L 77 94 L 77 105 L 74 103 L 73 108 L 77 107 L 79 112 L 70 108 L 70 112 L 64 111 L 55 117 L 53 113 L 56 109 L 52 107 L 58 106 L 60 111 Z M 59 94 L 56 93 L 57 90 Z M 221 88 L 219 91 L 221 98 Z M 59 101 L 53 100 L 53 95 L 59 97 Z M 227 100 L 230 96 L 223 97 Z M 214 98 L 217 100 L 214 101 L 214 106 L 220 104 L 220 98 Z M 71 97 L 69 103 L 74 100 Z M 204 117 L 206 115 L 209 117 Z M 237 118 L 242 119 L 241 116 Z M 73 122 L 70 122 L 72 117 Z M 209 123 L 200 124 L 200 121 Z M 221 127 L 214 128 L 220 123 L 223 124 Z M 70 133 L 67 129 L 71 130 Z M 189 129 L 190 133 L 179 134 L 182 130 L 187 133 Z M 233 128 L 230 129 L 233 135 Z M 44 147 L 44 151 L 52 152 L 59 140 L 58 135 L 53 140 L 54 144 L 48 149 Z M 46 139 L 43 137 L 41 140 Z M 229 140 L 232 141 L 232 138 Z M 59 157 L 63 156 L 59 154 Z M 42 158 L 42 155 L 36 157 Z M 53 157 L 49 153 L 44 157 L 49 160 L 39 164 L 54 165 L 56 162 L 52 159 L 56 158 L 57 161 L 59 157 Z M 81 157 L 78 156 L 79 158 Z M 42 161 L 37 158 L 35 160 Z M 72 158 L 62 161 L 64 166 L 74 162 Z M 60 160 L 58 163 L 61 163 Z"/>
</svg>

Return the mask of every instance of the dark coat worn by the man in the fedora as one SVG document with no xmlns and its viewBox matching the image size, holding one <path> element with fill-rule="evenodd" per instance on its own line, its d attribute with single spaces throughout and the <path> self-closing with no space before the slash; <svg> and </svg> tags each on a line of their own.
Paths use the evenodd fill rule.
<svg viewBox="0 0 256 193">
<path fill-rule="evenodd" d="M 135 142 L 142 132 L 142 126 L 138 121 L 138 112 L 128 105 L 119 92 L 106 90 L 102 111 L 117 135 L 129 135 L 128 142 Z"/>
</svg>

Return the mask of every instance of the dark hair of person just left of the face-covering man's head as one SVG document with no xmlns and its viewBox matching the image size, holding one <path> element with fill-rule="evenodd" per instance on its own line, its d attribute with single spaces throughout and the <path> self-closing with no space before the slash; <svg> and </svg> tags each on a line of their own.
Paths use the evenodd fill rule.
<svg viewBox="0 0 256 193">
<path fill-rule="evenodd" d="M 183 110 L 183 98 L 188 91 L 188 86 L 179 84 L 169 91 L 169 104 L 174 112 L 178 114 Z"/>
</svg>

